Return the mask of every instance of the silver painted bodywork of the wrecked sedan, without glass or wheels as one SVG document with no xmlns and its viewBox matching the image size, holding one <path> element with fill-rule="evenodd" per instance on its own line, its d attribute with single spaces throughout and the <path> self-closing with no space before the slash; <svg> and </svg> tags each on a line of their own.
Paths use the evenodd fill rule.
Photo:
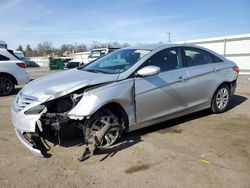
<svg viewBox="0 0 250 188">
<path fill-rule="evenodd" d="M 220 57 L 224 62 L 184 67 L 148 77 L 131 76 L 152 55 L 172 47 L 203 49 Z M 128 48 L 152 51 L 120 74 L 92 73 L 71 69 L 27 84 L 17 95 L 12 107 L 12 122 L 19 131 L 19 139 L 25 139 L 20 136 L 22 132 L 34 133 L 36 131 L 37 120 L 41 116 L 41 113 L 26 115 L 25 111 L 81 88 L 87 87 L 81 100 L 68 112 L 70 119 L 82 120 L 90 117 L 106 104 L 117 103 L 125 110 L 129 120 L 128 131 L 132 131 L 209 108 L 213 94 L 219 85 L 237 79 L 237 73 L 232 69 L 236 66 L 235 63 L 201 47 L 161 44 Z M 23 96 L 35 97 L 36 100 L 25 103 L 18 110 L 18 103 L 25 98 Z M 22 142 L 28 145 L 27 142 Z"/>
</svg>

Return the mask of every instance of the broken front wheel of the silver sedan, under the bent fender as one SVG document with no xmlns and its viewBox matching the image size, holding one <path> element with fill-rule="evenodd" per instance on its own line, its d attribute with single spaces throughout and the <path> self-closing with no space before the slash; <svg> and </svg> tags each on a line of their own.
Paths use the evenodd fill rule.
<svg viewBox="0 0 250 188">
<path fill-rule="evenodd" d="M 108 148 L 114 144 L 120 137 L 123 131 L 123 125 L 119 122 L 117 116 L 109 109 L 101 110 L 91 116 L 86 122 L 84 129 L 85 140 L 89 140 L 96 131 L 100 130 L 106 124 L 112 124 L 112 128 L 107 132 L 104 138 L 100 141 L 99 149 Z"/>
</svg>

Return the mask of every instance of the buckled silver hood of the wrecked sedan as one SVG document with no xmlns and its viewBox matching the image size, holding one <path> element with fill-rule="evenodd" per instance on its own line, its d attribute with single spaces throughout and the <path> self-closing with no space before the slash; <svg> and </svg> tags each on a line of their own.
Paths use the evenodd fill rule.
<svg viewBox="0 0 250 188">
<path fill-rule="evenodd" d="M 70 69 L 47 75 L 28 83 L 23 89 L 24 95 L 36 97 L 39 101 L 58 98 L 77 89 L 110 81 L 116 81 L 118 74 L 92 73 Z"/>
</svg>

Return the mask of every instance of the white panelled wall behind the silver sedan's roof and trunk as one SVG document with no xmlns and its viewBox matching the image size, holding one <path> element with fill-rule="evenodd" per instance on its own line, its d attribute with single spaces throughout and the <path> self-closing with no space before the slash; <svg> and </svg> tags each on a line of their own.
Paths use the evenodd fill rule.
<svg viewBox="0 0 250 188">
<path fill-rule="evenodd" d="M 213 50 L 234 61 L 240 67 L 241 74 L 250 74 L 250 33 L 186 40 L 178 43 L 195 44 Z"/>
</svg>

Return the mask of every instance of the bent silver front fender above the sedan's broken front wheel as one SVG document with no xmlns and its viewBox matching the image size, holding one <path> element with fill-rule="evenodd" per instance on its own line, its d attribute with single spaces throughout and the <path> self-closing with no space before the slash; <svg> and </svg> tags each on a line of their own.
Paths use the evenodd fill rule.
<svg viewBox="0 0 250 188">
<path fill-rule="evenodd" d="M 69 111 L 70 119 L 82 120 L 93 115 L 104 105 L 116 102 L 120 104 L 129 118 L 129 125 L 136 123 L 134 102 L 134 78 L 112 82 L 102 87 L 88 89 L 78 104 Z"/>
</svg>

